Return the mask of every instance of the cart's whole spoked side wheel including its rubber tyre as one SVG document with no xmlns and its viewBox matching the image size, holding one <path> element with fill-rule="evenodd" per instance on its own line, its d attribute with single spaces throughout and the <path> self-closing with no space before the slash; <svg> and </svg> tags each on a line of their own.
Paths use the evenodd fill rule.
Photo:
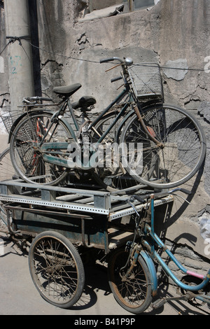
<svg viewBox="0 0 210 329">
<path fill-rule="evenodd" d="M 29 270 L 41 296 L 57 307 L 73 306 L 83 293 L 83 262 L 71 241 L 57 232 L 36 236 L 29 249 Z"/>
</svg>

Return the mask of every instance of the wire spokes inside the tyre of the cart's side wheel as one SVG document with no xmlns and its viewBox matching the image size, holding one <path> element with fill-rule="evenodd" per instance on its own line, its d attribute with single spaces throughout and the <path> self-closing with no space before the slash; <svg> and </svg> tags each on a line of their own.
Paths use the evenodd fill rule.
<svg viewBox="0 0 210 329">
<path fill-rule="evenodd" d="M 33 272 L 38 286 L 53 302 L 64 303 L 78 287 L 76 262 L 61 241 L 41 239 L 34 247 Z"/>
</svg>

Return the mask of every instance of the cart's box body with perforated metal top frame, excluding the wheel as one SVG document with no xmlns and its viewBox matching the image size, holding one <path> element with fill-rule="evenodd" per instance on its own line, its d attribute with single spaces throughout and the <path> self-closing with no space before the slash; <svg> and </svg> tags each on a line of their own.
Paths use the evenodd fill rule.
<svg viewBox="0 0 210 329">
<path fill-rule="evenodd" d="M 35 237 L 45 230 L 60 232 L 73 244 L 110 249 L 131 240 L 135 210 L 128 195 L 101 190 L 43 186 L 20 179 L 0 182 L 0 202 L 10 221 L 10 232 Z M 155 207 L 172 202 L 167 195 Z M 138 212 L 147 204 L 134 202 Z M 8 224 L 8 222 L 10 222 Z"/>
</svg>

